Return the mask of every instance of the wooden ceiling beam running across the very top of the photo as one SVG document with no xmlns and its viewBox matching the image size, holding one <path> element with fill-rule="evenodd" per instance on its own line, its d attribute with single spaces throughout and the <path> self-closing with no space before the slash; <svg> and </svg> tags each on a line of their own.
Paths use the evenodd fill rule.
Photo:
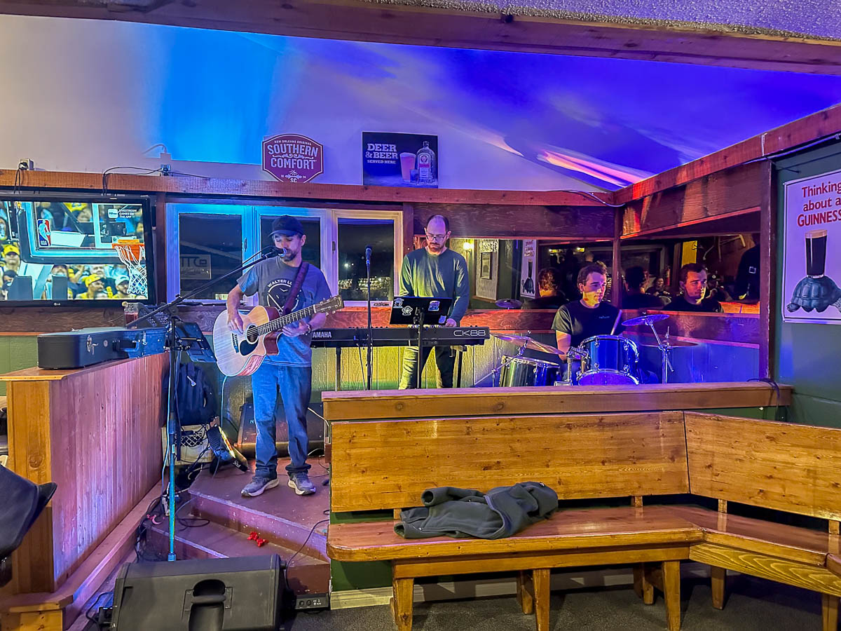
<svg viewBox="0 0 841 631">
<path fill-rule="evenodd" d="M 841 75 L 841 41 L 611 24 L 364 0 L 5 0 L 0 13 L 479 50 Z"/>
</svg>

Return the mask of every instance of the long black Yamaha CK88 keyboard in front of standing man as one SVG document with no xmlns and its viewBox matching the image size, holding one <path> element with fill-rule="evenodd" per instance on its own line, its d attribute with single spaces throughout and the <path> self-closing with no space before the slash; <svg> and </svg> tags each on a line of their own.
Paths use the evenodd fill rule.
<svg viewBox="0 0 841 631">
<path fill-rule="evenodd" d="M 371 330 L 373 346 L 417 346 L 416 328 L 387 326 Z M 490 337 L 487 326 L 427 326 L 423 331 L 424 346 L 461 346 L 484 344 Z M 314 347 L 365 347 L 368 346 L 368 328 L 318 329 L 313 331 Z"/>
</svg>

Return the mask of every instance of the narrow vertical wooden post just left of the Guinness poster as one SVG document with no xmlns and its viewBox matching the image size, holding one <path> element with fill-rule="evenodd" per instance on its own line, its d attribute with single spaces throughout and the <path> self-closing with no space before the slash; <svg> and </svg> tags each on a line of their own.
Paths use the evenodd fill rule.
<svg viewBox="0 0 841 631">
<path fill-rule="evenodd" d="M 777 296 L 777 184 L 774 165 L 764 162 L 759 207 L 759 377 L 772 379 Z"/>
</svg>

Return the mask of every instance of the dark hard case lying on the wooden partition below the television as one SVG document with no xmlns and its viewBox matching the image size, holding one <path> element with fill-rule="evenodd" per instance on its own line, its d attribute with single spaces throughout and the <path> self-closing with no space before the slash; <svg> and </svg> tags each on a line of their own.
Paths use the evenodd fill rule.
<svg viewBox="0 0 841 631">
<path fill-rule="evenodd" d="M 163 353 L 165 328 L 100 326 L 38 336 L 38 367 L 76 369 L 112 359 Z"/>
</svg>

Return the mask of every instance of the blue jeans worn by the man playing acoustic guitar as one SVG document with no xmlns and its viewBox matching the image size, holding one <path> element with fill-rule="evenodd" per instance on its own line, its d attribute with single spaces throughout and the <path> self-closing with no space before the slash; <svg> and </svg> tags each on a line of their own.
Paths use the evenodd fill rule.
<svg viewBox="0 0 841 631">
<path fill-rule="evenodd" d="M 264 361 L 257 372 L 251 375 L 251 391 L 254 394 L 254 423 L 257 426 L 255 473 L 272 480 L 278 477 L 274 420 L 278 391 L 286 413 L 289 458 L 292 459 L 286 470 L 290 476 L 309 471 L 307 406 L 312 392 L 312 369 L 309 366 L 282 366 Z"/>
</svg>

